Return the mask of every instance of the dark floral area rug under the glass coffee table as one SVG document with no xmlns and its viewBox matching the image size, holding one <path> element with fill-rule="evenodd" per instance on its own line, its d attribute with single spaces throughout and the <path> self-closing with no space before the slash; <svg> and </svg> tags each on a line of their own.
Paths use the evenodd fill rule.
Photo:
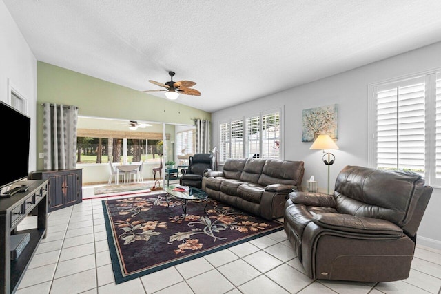
<svg viewBox="0 0 441 294">
<path fill-rule="evenodd" d="M 165 193 L 103 200 L 115 282 L 119 284 L 283 229 L 216 200 L 183 202 Z"/>
</svg>

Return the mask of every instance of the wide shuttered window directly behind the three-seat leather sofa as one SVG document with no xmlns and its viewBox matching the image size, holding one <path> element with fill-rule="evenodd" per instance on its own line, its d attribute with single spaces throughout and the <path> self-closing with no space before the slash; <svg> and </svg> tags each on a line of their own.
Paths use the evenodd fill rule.
<svg viewBox="0 0 441 294">
<path fill-rule="evenodd" d="M 280 110 L 220 123 L 219 161 L 280 158 Z"/>
</svg>

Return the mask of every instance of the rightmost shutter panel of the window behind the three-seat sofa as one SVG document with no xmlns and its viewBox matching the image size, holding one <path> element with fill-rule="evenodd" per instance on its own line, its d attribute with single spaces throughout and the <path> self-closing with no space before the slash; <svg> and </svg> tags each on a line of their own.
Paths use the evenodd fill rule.
<svg viewBox="0 0 441 294">
<path fill-rule="evenodd" d="M 280 112 L 262 116 L 263 158 L 280 158 Z"/>
</svg>

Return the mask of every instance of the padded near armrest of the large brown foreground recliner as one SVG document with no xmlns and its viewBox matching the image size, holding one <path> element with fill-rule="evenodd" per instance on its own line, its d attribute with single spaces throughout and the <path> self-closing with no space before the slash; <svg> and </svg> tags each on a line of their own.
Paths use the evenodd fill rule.
<svg viewBox="0 0 441 294">
<path fill-rule="evenodd" d="M 400 227 L 389 220 L 380 218 L 365 218 L 342 213 L 320 213 L 313 216 L 312 221 L 320 227 L 337 231 L 397 237 L 402 235 Z"/>
</svg>

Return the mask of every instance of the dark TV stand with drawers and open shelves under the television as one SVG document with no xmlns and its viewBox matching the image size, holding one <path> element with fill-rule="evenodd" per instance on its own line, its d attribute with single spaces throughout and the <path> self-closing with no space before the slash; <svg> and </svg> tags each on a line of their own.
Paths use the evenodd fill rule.
<svg viewBox="0 0 441 294">
<path fill-rule="evenodd" d="M 25 187 L 0 198 L 0 294 L 17 291 L 48 224 L 48 180 L 27 180 Z M 25 191 L 23 191 L 25 190 Z M 17 231 L 19 223 L 37 209 L 37 228 Z M 30 241 L 16 260 L 11 260 L 11 235 L 30 233 Z"/>
</svg>

